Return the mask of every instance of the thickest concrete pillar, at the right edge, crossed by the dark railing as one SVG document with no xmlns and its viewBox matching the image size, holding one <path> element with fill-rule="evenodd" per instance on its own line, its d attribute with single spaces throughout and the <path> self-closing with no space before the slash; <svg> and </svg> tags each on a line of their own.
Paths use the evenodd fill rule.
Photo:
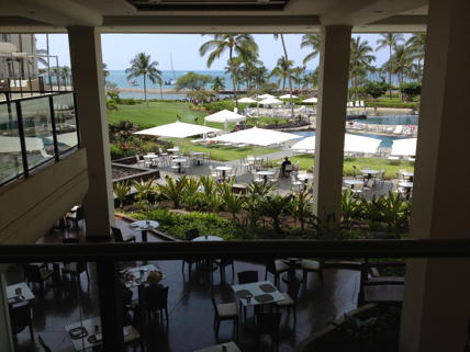
<svg viewBox="0 0 470 352">
<path fill-rule="evenodd" d="M 430 0 L 411 236 L 470 237 L 470 1 Z M 461 352 L 470 318 L 470 260 L 410 260 L 401 352 Z"/>
</svg>

